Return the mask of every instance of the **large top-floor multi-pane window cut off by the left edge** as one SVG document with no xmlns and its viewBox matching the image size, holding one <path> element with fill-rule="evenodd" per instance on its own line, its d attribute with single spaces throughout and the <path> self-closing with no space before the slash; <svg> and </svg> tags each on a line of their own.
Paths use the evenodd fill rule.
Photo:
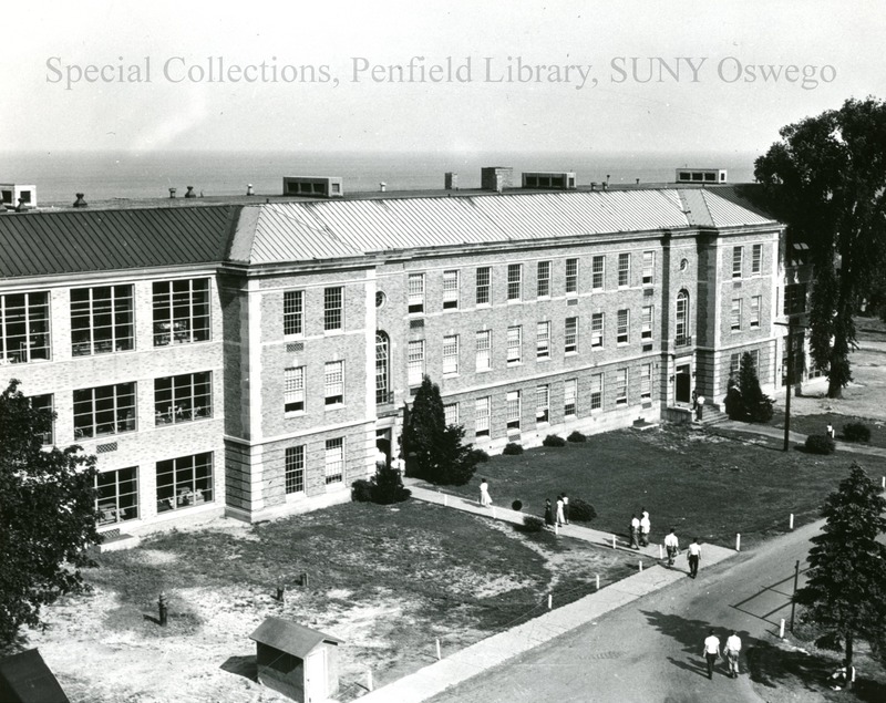
<svg viewBox="0 0 886 703">
<path fill-rule="evenodd" d="M 0 296 L 0 362 L 48 360 L 49 293 Z"/>
</svg>

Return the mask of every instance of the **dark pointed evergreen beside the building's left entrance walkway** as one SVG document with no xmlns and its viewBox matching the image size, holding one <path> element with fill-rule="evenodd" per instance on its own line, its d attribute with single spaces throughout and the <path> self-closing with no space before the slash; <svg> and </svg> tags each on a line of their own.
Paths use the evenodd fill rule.
<svg viewBox="0 0 886 703">
<path fill-rule="evenodd" d="M 403 427 L 406 474 L 435 484 L 466 484 L 478 459 L 463 440 L 464 427 L 446 425 L 440 386 L 425 375 Z"/>
</svg>

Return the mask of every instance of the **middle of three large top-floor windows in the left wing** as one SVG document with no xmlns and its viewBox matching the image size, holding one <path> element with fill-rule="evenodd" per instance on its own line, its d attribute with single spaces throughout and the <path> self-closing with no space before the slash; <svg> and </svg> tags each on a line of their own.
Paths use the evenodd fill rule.
<svg viewBox="0 0 886 703">
<path fill-rule="evenodd" d="M 134 348 L 132 286 L 71 291 L 71 355 L 109 354 Z"/>
</svg>

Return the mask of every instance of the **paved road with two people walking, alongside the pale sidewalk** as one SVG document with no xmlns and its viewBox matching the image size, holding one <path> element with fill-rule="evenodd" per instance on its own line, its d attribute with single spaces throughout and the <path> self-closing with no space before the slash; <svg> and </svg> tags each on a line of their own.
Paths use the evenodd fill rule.
<svg viewBox="0 0 886 703">
<path fill-rule="evenodd" d="M 431 701 L 764 701 L 750 682 L 744 657 L 739 680 L 727 678 L 720 666 L 709 681 L 700 655 L 702 641 L 711 627 L 721 639 L 734 628 L 745 652 L 754 648 L 765 655 L 781 618 L 790 620 L 795 561 L 804 568 L 808 539 L 820 527 L 821 523 L 807 525 L 708 570 L 702 559 L 697 580 L 681 580 Z M 813 691 L 804 695 L 804 701 L 818 699 Z"/>
</svg>

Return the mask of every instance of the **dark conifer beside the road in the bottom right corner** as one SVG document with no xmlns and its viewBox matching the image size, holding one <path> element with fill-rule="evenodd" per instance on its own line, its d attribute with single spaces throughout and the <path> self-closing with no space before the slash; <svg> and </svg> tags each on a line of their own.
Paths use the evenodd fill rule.
<svg viewBox="0 0 886 703">
<path fill-rule="evenodd" d="M 794 593 L 801 619 L 823 631 L 816 644 L 841 651 L 852 664 L 853 643 L 879 648 L 886 626 L 886 499 L 853 463 L 849 476 L 825 500 L 822 533 L 812 538 L 808 580 Z"/>
</svg>

